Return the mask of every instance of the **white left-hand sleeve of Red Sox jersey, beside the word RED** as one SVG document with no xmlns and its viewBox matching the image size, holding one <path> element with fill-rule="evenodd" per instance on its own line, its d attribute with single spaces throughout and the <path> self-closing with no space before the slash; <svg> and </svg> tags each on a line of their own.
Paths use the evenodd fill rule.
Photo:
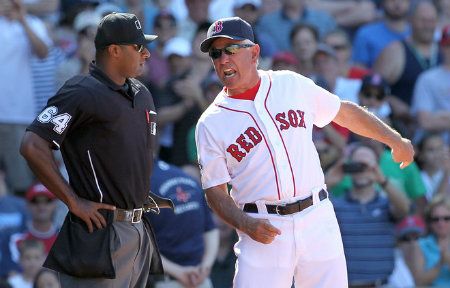
<svg viewBox="0 0 450 288">
<path fill-rule="evenodd" d="M 197 157 L 200 166 L 202 188 L 208 189 L 228 183 L 231 178 L 228 173 L 225 154 L 219 149 L 214 135 L 200 120 L 195 130 Z"/>
</svg>

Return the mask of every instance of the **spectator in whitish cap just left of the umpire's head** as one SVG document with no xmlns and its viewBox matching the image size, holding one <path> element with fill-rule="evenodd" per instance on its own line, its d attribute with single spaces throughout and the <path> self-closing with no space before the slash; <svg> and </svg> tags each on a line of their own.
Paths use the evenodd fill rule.
<svg viewBox="0 0 450 288">
<path fill-rule="evenodd" d="M 75 75 L 89 72 L 89 64 L 95 58 L 94 38 L 100 20 L 100 14 L 94 10 L 81 11 L 75 17 L 73 29 L 77 33 L 77 51 L 58 66 L 58 87 Z"/>
</svg>

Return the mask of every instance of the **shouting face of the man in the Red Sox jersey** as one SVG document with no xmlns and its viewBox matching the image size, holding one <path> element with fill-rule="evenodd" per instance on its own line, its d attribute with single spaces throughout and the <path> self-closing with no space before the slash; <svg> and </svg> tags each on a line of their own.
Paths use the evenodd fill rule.
<svg viewBox="0 0 450 288">
<path fill-rule="evenodd" d="M 249 40 L 237 41 L 228 38 L 218 38 L 210 48 L 211 50 L 221 51 L 220 56 L 211 58 L 214 69 L 221 82 L 227 87 L 228 94 L 235 95 L 242 93 L 254 85 L 259 79 L 257 65 L 259 58 L 259 45 L 253 44 L 252 47 L 242 47 L 230 54 L 224 49 L 238 44 L 253 44 Z M 211 53 L 210 53 L 211 55 Z M 256 83 L 255 83 L 256 79 Z"/>
</svg>

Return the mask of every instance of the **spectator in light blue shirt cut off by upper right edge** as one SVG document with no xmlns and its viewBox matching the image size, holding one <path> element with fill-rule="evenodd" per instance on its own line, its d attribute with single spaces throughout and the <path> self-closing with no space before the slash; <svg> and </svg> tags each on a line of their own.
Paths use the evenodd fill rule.
<svg viewBox="0 0 450 288">
<path fill-rule="evenodd" d="M 442 133 L 450 144 L 450 25 L 442 30 L 440 47 L 443 63 L 417 79 L 412 112 L 422 129 Z M 420 138 L 420 131 L 417 136 Z"/>
</svg>

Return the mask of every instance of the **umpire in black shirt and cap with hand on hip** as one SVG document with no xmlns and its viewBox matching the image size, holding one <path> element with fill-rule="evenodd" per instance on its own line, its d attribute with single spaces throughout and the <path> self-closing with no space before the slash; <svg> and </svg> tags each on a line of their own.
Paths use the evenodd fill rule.
<svg viewBox="0 0 450 288">
<path fill-rule="evenodd" d="M 150 92 L 133 77 L 150 57 L 133 14 L 100 22 L 89 75 L 68 80 L 27 128 L 21 154 L 69 208 L 45 267 L 62 287 L 145 287 L 162 273 L 148 204 L 156 113 Z M 69 174 L 52 154 L 60 149 Z"/>
</svg>

